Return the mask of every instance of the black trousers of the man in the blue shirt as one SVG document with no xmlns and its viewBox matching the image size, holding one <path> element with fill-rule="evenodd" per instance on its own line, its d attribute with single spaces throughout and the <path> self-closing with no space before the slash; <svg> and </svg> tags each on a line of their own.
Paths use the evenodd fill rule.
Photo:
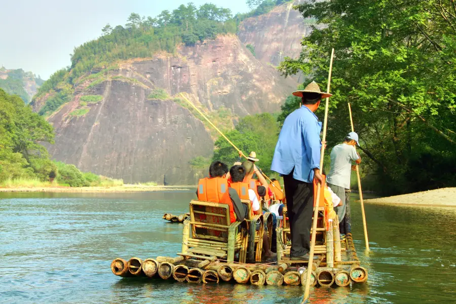
<svg viewBox="0 0 456 304">
<path fill-rule="evenodd" d="M 283 183 L 291 232 L 290 257 L 296 257 L 310 251 L 314 188 L 312 183 L 294 179 L 293 171 L 283 176 Z"/>
</svg>

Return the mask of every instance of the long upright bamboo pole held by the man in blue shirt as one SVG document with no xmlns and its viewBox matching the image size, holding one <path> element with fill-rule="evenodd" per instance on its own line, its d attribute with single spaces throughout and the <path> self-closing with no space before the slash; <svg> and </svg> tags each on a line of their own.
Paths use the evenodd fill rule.
<svg viewBox="0 0 456 304">
<path fill-rule="evenodd" d="M 331 51 L 331 60 L 329 61 L 329 75 L 328 75 L 328 86 L 326 88 L 326 92 L 329 93 L 329 87 L 331 85 L 331 71 L 332 71 L 332 59 L 334 57 L 334 49 Z M 326 104 L 325 104 L 325 120 L 323 121 L 323 138 L 321 145 L 321 152 L 320 152 L 320 170 L 323 170 L 323 158 L 325 156 L 325 142 L 326 142 L 326 127 L 328 124 L 328 105 L 329 105 L 329 97 L 326 97 Z M 318 218 L 318 202 L 320 201 L 320 189 L 322 184 L 317 183 L 317 204 L 314 206 L 314 219 L 312 221 L 312 239 L 311 239 L 311 248 L 309 251 L 309 264 L 307 266 L 307 279 L 306 279 L 306 289 L 304 291 L 304 298 L 303 301 L 306 301 L 309 298 L 309 289 L 310 289 L 310 281 L 312 275 L 312 263 L 314 261 L 314 248 L 315 248 L 315 239 L 317 237 L 317 218 Z"/>
</svg>

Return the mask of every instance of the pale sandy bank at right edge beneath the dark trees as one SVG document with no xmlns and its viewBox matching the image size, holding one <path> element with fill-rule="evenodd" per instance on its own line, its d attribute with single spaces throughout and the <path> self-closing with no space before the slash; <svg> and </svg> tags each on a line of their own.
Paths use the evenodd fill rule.
<svg viewBox="0 0 456 304">
<path fill-rule="evenodd" d="M 364 202 L 375 204 L 456 207 L 456 188 L 441 188 L 387 198 L 370 199 L 365 200 Z"/>
</svg>

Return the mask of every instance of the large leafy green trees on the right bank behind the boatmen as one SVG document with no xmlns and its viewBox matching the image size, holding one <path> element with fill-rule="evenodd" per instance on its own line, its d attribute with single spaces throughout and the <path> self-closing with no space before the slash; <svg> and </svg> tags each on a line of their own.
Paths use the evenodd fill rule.
<svg viewBox="0 0 456 304">
<path fill-rule="evenodd" d="M 330 0 L 296 8 L 327 27 L 314 28 L 300 56 L 279 68 L 312 74 L 325 87 L 335 49 L 328 138 L 340 141 L 350 130 L 351 102 L 386 192 L 456 185 L 455 3 Z"/>
</svg>

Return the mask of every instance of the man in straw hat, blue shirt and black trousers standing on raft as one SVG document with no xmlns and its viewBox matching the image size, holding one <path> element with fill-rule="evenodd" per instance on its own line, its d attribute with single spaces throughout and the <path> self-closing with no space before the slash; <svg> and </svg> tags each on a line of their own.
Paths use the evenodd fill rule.
<svg viewBox="0 0 456 304">
<path fill-rule="evenodd" d="M 320 174 L 321 123 L 314 112 L 321 99 L 332 94 L 321 92 L 317 83 L 312 82 L 306 89 L 293 92 L 293 95 L 302 98 L 302 106 L 288 115 L 283 123 L 271 170 L 283 175 L 290 220 L 290 259 L 308 260 L 314 205 L 313 180 L 323 183 Z"/>
</svg>

